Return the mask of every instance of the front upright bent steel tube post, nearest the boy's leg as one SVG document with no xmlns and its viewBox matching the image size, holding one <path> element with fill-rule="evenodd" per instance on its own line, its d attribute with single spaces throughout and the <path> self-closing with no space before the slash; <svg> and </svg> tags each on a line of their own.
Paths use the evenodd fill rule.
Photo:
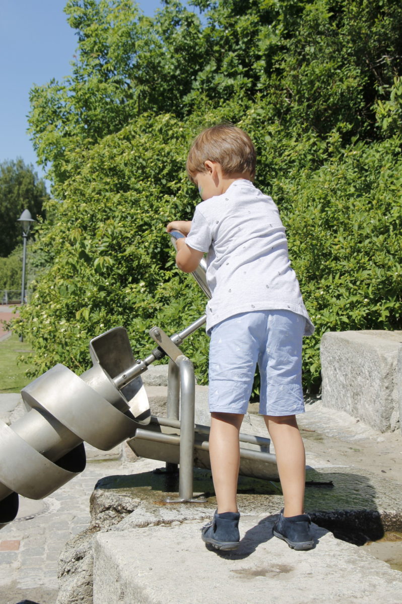
<svg viewBox="0 0 402 604">
<path fill-rule="evenodd" d="M 179 356 L 176 363 L 180 371 L 181 393 L 179 497 L 182 501 L 191 501 L 193 498 L 195 377 L 193 364 L 186 356 Z"/>
</svg>

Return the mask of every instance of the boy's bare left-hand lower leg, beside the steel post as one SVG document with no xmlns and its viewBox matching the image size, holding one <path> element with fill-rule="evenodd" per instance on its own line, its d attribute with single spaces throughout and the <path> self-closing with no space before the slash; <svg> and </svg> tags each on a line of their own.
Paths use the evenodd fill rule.
<svg viewBox="0 0 402 604">
<path fill-rule="evenodd" d="M 209 437 L 213 486 L 218 514 L 237 512 L 236 492 L 239 477 L 239 431 L 243 415 L 212 413 Z"/>
</svg>

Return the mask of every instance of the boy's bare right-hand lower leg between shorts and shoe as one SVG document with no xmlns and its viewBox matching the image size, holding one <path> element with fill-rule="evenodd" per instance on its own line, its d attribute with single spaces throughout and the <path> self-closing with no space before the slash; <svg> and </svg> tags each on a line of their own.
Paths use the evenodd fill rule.
<svg viewBox="0 0 402 604">
<path fill-rule="evenodd" d="M 306 454 L 296 417 L 264 416 L 264 419 L 277 457 L 284 500 L 283 516 L 298 516 L 304 513 Z"/>
</svg>

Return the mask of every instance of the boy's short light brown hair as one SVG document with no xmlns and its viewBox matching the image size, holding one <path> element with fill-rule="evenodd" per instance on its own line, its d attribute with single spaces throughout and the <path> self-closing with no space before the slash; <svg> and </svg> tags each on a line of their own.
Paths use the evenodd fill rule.
<svg viewBox="0 0 402 604">
<path fill-rule="evenodd" d="M 195 138 L 187 157 L 186 169 L 190 180 L 196 173 L 206 172 L 205 162 L 221 164 L 225 176 L 256 173 L 256 149 L 251 138 L 233 124 L 218 124 L 203 130 Z"/>
</svg>

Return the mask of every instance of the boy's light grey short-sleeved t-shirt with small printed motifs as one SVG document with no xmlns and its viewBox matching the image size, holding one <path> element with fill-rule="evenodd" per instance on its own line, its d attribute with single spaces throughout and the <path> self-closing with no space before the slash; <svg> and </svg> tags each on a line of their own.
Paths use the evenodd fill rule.
<svg viewBox="0 0 402 604">
<path fill-rule="evenodd" d="M 306 318 L 304 335 L 312 335 L 278 208 L 252 182 L 234 181 L 198 204 L 186 243 L 208 254 L 207 333 L 240 312 L 292 310 Z"/>
</svg>

